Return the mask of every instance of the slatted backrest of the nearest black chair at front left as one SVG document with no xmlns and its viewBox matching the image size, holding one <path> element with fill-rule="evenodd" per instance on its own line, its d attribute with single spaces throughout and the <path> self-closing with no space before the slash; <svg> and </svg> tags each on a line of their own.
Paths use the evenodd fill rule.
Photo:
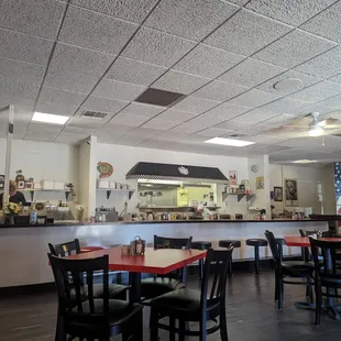
<svg viewBox="0 0 341 341">
<path fill-rule="evenodd" d="M 66 332 L 84 338 L 109 337 L 109 256 L 90 260 L 68 260 L 48 254 L 57 286 L 59 314 Z M 94 274 L 103 273 L 103 295 L 94 295 Z M 81 279 L 87 278 L 87 300 L 84 299 Z M 72 283 L 69 280 L 72 278 Z"/>
</svg>

